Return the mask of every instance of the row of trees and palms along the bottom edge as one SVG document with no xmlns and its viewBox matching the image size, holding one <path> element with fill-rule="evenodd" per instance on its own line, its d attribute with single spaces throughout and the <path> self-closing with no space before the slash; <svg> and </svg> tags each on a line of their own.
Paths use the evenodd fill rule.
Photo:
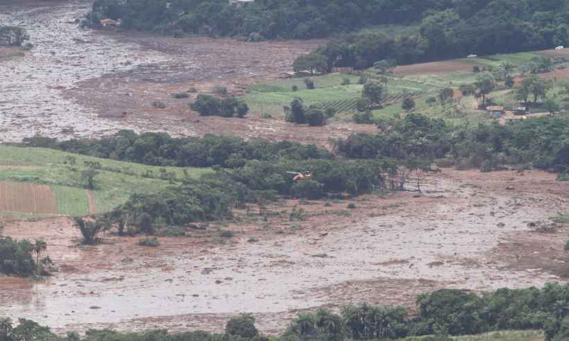
<svg viewBox="0 0 569 341">
<path fill-rule="evenodd" d="M 300 313 L 282 335 L 261 335 L 255 317 L 232 317 L 224 333 L 166 330 L 142 333 L 87 331 L 84 338 L 75 332 L 65 337 L 51 333 L 49 327 L 19 319 L 17 326 L 0 318 L 0 340 L 24 341 L 343 341 L 396 340 L 411 335 L 434 335 L 425 340 L 450 341 L 448 335 L 470 335 L 487 331 L 543 329 L 547 340 L 569 340 L 569 287 L 547 283 L 541 289 L 507 289 L 485 292 L 481 296 L 466 290 L 441 289 L 418 295 L 416 315 L 402 307 L 358 304 L 339 312 L 319 309 Z"/>
</svg>

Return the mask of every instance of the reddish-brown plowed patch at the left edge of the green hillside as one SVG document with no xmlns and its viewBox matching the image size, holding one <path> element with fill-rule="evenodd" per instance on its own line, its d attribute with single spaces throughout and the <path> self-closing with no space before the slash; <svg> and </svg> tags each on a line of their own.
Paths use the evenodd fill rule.
<svg viewBox="0 0 569 341">
<path fill-rule="evenodd" d="M 0 211 L 57 214 L 58 202 L 49 186 L 0 182 Z"/>
</svg>

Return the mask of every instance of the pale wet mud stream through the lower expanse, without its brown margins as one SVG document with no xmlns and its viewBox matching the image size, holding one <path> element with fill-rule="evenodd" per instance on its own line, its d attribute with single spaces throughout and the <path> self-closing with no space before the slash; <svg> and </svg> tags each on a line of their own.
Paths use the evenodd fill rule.
<svg viewBox="0 0 569 341">
<path fill-rule="evenodd" d="M 93 324 L 121 329 L 119 322 L 147 317 L 242 311 L 282 315 L 359 299 L 401 303 L 403 295 L 417 293 L 407 292 L 409 281 L 430 283 L 419 286 L 421 292 L 541 286 L 557 279 L 537 270 L 504 268 L 489 253 L 502 236 L 527 231 L 527 221 L 554 215 L 557 204 L 536 205 L 536 194 L 495 195 L 448 179 L 426 188 L 436 189 L 429 195 L 453 200 L 433 200 L 430 207 L 396 210 L 364 224 L 332 222 L 326 235 L 302 230 L 258 243 L 242 238 L 208 250 L 180 247 L 108 270 L 58 274 L 31 291 L 3 292 L 0 305 L 12 316 L 33 317 L 60 330 Z M 357 298 L 347 286 L 354 281 L 361 294 Z M 384 290 L 387 281 L 396 288 Z M 273 323 L 259 319 L 262 329 Z M 285 322 L 277 325 L 282 329 Z"/>
</svg>

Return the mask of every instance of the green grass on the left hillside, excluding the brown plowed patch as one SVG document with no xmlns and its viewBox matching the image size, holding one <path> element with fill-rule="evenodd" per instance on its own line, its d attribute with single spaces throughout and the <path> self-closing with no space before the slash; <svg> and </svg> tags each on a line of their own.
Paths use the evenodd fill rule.
<svg viewBox="0 0 569 341">
<path fill-rule="evenodd" d="M 76 166 L 64 164 L 68 156 L 76 158 Z M 102 169 L 95 178 L 93 191 L 97 212 L 113 209 L 126 201 L 132 193 L 155 193 L 167 189 L 171 184 L 167 180 L 142 177 L 148 170 L 155 175 L 160 174 L 161 167 L 85 157 L 44 148 L 3 145 L 0 145 L 0 181 L 49 185 L 55 193 L 58 214 L 84 215 L 89 213 L 85 182 L 80 177 L 84 161 L 98 161 L 101 164 Z M 184 177 L 182 168 L 165 167 L 165 170 L 174 173 L 178 180 Z M 198 177 L 209 172 L 210 168 L 186 168 L 186 171 L 190 177 Z M 42 216 L 29 212 L 1 212 L 0 218 L 22 218 L 22 215 L 24 218 Z"/>
</svg>

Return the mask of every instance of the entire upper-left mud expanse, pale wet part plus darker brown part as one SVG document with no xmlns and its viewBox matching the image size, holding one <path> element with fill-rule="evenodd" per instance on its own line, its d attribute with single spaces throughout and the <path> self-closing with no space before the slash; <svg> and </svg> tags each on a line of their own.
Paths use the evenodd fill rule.
<svg viewBox="0 0 569 341">
<path fill-rule="evenodd" d="M 371 129 L 331 123 L 322 130 L 291 135 L 294 125 L 262 120 L 260 112 L 250 112 L 247 119 L 221 119 L 198 117 L 189 110 L 187 104 L 198 93 L 211 93 L 213 87 L 227 87 L 230 94 L 239 95 L 251 82 L 290 71 L 296 56 L 322 40 L 250 43 L 79 28 L 75 20 L 89 6 L 89 0 L 0 3 L 0 21 L 24 26 L 34 44 L 21 58 L 0 62 L 0 141 L 35 134 L 101 137 L 132 129 L 325 145 L 328 137 Z M 172 98 L 191 88 L 198 91 L 191 98 Z M 153 107 L 155 101 L 167 108 Z"/>
</svg>

